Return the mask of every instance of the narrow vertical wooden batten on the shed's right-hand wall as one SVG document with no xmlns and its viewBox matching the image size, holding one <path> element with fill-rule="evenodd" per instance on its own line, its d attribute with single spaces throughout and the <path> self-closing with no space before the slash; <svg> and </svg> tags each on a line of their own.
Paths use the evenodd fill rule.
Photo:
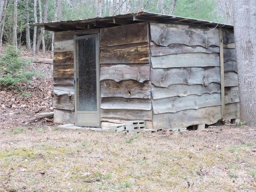
<svg viewBox="0 0 256 192">
<path fill-rule="evenodd" d="M 222 28 L 219 28 L 220 39 L 220 87 L 221 87 L 221 118 L 224 118 L 225 113 L 225 78 L 224 78 L 224 52 L 223 52 L 223 38 Z"/>
</svg>

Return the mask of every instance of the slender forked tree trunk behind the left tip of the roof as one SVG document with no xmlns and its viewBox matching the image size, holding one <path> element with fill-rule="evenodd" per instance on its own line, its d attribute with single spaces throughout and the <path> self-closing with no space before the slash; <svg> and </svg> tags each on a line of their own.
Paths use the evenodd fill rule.
<svg viewBox="0 0 256 192">
<path fill-rule="evenodd" d="M 44 19 L 43 22 L 47 22 L 47 12 L 48 12 L 48 6 L 49 6 L 49 0 L 45 0 L 45 6 L 44 6 Z M 38 1 L 39 4 L 39 20 L 42 22 L 42 7 L 41 7 L 41 0 Z M 43 43 L 43 54 L 45 54 L 45 43 L 44 43 L 44 29 L 41 28 L 40 34 L 37 39 L 36 44 L 36 52 L 39 51 L 41 42 Z"/>
</svg>

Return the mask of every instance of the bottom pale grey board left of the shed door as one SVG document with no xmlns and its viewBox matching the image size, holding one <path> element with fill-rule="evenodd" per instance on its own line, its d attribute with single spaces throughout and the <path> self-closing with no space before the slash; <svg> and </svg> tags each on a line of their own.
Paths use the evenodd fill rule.
<svg viewBox="0 0 256 192">
<path fill-rule="evenodd" d="M 71 110 L 54 109 L 54 123 L 74 124 L 75 113 Z"/>
</svg>

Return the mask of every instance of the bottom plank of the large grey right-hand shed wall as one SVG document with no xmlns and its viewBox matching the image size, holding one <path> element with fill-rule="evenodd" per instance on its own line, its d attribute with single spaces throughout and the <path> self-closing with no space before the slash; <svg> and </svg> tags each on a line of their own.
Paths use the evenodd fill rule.
<svg viewBox="0 0 256 192">
<path fill-rule="evenodd" d="M 188 127 L 198 124 L 213 124 L 221 119 L 221 107 L 205 107 L 189 109 L 177 113 L 153 115 L 154 129 L 166 129 L 172 127 Z"/>
</svg>

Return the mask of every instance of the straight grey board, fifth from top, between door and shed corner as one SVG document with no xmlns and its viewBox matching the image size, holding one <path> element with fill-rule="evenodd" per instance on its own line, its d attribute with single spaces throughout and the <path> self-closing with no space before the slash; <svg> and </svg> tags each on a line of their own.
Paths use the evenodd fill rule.
<svg viewBox="0 0 256 192">
<path fill-rule="evenodd" d="M 102 98 L 101 109 L 151 110 L 150 99 Z"/>
</svg>

